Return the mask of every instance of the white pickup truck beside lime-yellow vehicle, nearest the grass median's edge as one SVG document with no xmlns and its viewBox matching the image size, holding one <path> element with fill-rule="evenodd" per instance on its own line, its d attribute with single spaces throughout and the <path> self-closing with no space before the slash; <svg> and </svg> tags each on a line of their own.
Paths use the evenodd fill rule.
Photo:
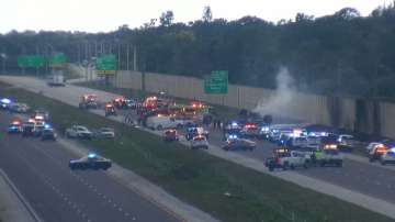
<svg viewBox="0 0 395 222">
<path fill-rule="evenodd" d="M 264 164 L 270 171 L 273 171 L 275 168 L 282 168 L 283 170 L 295 169 L 296 167 L 308 168 L 311 163 L 311 155 L 305 152 L 287 151 L 268 158 Z"/>
</svg>

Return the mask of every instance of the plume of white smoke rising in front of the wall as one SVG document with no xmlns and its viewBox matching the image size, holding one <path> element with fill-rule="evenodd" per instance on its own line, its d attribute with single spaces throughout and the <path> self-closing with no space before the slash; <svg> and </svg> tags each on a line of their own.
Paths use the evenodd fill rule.
<svg viewBox="0 0 395 222">
<path fill-rule="evenodd" d="M 290 75 L 286 67 L 281 67 L 276 77 L 276 89 L 268 97 L 267 95 L 258 102 L 253 112 L 258 112 L 262 116 L 289 115 L 291 103 L 296 93 L 295 80 Z"/>
</svg>

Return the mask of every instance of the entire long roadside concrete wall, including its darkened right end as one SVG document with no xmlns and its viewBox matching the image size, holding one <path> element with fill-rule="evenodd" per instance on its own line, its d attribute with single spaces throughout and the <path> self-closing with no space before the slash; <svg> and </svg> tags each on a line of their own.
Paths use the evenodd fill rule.
<svg viewBox="0 0 395 222">
<path fill-rule="evenodd" d="M 82 75 L 84 69 L 77 67 Z M 253 110 L 257 104 L 266 104 L 278 97 L 274 90 L 247 86 L 229 85 L 227 95 L 206 95 L 203 91 L 203 80 L 184 76 L 172 76 L 147 73 L 146 90 L 153 92 L 167 91 L 169 95 L 185 99 L 196 99 L 214 104 Z M 115 78 L 119 88 L 142 89 L 142 73 L 119 70 Z M 365 133 L 374 132 L 374 112 L 372 102 L 366 101 L 363 113 L 358 113 L 358 102 L 354 99 L 340 98 L 336 103 L 332 98 L 317 95 L 294 93 L 292 101 L 280 107 L 276 112 L 284 116 L 311 123 L 334 124 L 334 110 L 338 112 L 338 126 L 358 130 Z M 334 106 L 336 109 L 334 109 Z M 395 137 L 395 104 L 380 103 L 380 132 L 384 136 Z"/>
</svg>

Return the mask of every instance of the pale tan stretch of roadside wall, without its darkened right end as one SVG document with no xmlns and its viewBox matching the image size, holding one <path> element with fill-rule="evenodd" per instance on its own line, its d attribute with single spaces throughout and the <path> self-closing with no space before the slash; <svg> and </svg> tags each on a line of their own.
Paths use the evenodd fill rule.
<svg viewBox="0 0 395 222">
<path fill-rule="evenodd" d="M 142 74 L 136 71 L 117 71 L 116 87 L 142 89 Z M 275 91 L 262 88 L 229 85 L 227 95 L 206 95 L 203 91 L 203 80 L 184 76 L 161 75 L 146 73 L 146 90 L 153 92 L 167 91 L 169 95 L 185 99 L 196 99 L 214 104 L 252 110 L 259 102 L 266 103 Z M 292 116 L 302 121 L 329 124 L 326 97 L 295 93 L 292 101 L 279 110 L 282 115 Z"/>
</svg>

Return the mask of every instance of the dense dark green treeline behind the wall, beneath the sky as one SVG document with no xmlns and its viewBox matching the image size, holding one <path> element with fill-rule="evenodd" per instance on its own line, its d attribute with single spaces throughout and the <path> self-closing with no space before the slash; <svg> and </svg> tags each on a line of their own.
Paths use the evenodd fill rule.
<svg viewBox="0 0 395 222">
<path fill-rule="evenodd" d="M 204 77 L 229 71 L 229 81 L 275 87 L 280 67 L 287 67 L 300 90 L 354 97 L 395 96 L 395 7 L 380 7 L 369 16 L 352 8 L 321 18 L 298 13 L 274 24 L 255 16 L 213 20 L 210 8 L 201 20 L 173 23 L 167 11 L 138 29 L 110 33 L 12 31 L 0 35 L 7 69 L 21 54 L 63 52 L 74 63 L 114 53 L 121 69 Z M 2 56 L 2 59 L 4 56 Z M 128 59 L 128 62 L 127 62 Z"/>
</svg>

